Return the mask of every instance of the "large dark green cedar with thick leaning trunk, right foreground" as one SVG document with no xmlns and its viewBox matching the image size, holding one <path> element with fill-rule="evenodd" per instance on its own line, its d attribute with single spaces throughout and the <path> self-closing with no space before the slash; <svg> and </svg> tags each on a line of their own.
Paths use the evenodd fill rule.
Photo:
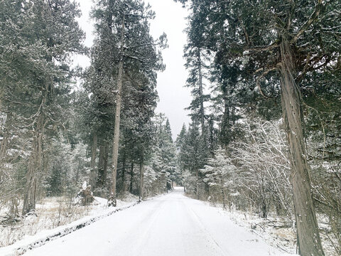
<svg viewBox="0 0 341 256">
<path fill-rule="evenodd" d="M 280 86 L 299 252 L 324 255 L 311 194 L 303 133 L 303 95 L 308 75 L 336 74 L 340 70 L 341 3 L 205 0 L 200 4 L 210 9 L 207 15 L 210 38 L 218 38 L 214 43 L 223 43 L 215 48 L 224 46 L 229 50 L 225 60 L 244 60 L 242 68 L 249 66 L 249 75 L 256 76 L 256 87 L 264 97 L 271 97 L 266 93 L 271 91 L 271 85 Z M 217 23 L 224 24 L 224 31 L 215 26 Z M 330 79 L 336 79 L 335 75 Z M 323 81 L 314 83 L 320 82 L 319 86 L 323 86 Z"/>
</svg>

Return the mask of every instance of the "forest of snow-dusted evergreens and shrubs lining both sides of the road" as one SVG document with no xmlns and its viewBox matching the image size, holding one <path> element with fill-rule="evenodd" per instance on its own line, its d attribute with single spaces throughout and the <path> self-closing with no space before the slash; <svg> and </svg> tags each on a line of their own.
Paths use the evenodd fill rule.
<svg viewBox="0 0 341 256">
<path fill-rule="evenodd" d="M 74 1 L 0 1 L 1 225 L 37 216 L 44 198 L 70 215 L 76 196 L 115 207 L 176 184 L 285 219 L 299 255 L 340 255 L 341 2 L 175 2 L 189 11 L 192 102 L 173 142 L 155 111 L 168 43 L 151 36 L 151 6 L 94 1 L 87 48 Z"/>
</svg>

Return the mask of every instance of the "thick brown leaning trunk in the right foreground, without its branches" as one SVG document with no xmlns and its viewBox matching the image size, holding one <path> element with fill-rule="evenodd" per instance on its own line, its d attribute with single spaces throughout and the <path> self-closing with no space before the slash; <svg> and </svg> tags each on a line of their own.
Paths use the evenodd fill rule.
<svg viewBox="0 0 341 256">
<path fill-rule="evenodd" d="M 311 193 L 309 166 L 303 137 L 301 92 L 295 81 L 296 67 L 291 46 L 286 38 L 281 42 L 281 101 L 283 121 L 291 161 L 291 183 L 295 206 L 299 253 L 303 256 L 323 256 L 318 222 Z"/>
</svg>

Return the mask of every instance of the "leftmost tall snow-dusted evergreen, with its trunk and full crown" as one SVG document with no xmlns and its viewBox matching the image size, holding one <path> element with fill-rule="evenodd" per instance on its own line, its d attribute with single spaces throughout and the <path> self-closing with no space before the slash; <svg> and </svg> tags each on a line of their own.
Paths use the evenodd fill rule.
<svg viewBox="0 0 341 256">
<path fill-rule="evenodd" d="M 83 51 L 84 33 L 75 18 L 80 16 L 75 3 L 70 1 L 2 1 L 9 7 L 7 31 L 1 22 L 1 33 L 10 41 L 1 54 L 11 73 L 1 65 L 4 80 L 2 103 L 21 124 L 32 127 L 31 156 L 28 159 L 23 214 L 35 210 L 38 173 L 43 169 L 43 139 L 45 129 L 58 125 L 61 107 L 55 95 L 67 94 L 70 82 L 70 55 Z M 1 8 L 1 10 L 4 10 Z M 6 34 L 10 32 L 11 34 Z M 18 56 L 18 58 L 13 58 Z M 13 86 L 13 87 L 12 87 Z M 14 88 L 14 90 L 13 90 Z"/>
</svg>

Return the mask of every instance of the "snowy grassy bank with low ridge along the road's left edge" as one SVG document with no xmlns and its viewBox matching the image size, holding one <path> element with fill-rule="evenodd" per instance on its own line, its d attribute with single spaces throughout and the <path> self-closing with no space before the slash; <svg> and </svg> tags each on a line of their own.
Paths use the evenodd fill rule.
<svg viewBox="0 0 341 256">
<path fill-rule="evenodd" d="M 74 206 L 74 208 L 77 209 L 77 213 L 73 213 L 69 218 L 67 218 L 68 216 L 64 216 L 61 221 L 62 223 L 65 223 L 65 225 L 62 224 L 57 228 L 53 228 L 56 224 L 53 223 L 51 218 L 58 214 L 58 208 L 61 206 L 58 205 L 58 198 L 49 198 L 47 202 L 38 204 L 38 217 L 28 216 L 17 225 L 1 227 L 1 244 L 11 243 L 11 241 L 13 242 L 15 240 L 17 241 L 12 245 L 0 247 L 0 255 L 22 255 L 27 250 L 40 247 L 48 241 L 61 238 L 64 235 L 84 228 L 97 220 L 106 218 L 119 210 L 136 206 L 138 203 L 138 198 L 129 194 L 124 198 L 124 201 L 117 201 L 117 207 L 107 207 L 107 199 L 95 197 L 94 203 L 90 206 Z M 56 208 L 57 213 L 55 210 Z M 82 217 L 84 214 L 87 216 Z M 60 222 L 60 220 L 58 220 L 58 222 Z"/>
</svg>

